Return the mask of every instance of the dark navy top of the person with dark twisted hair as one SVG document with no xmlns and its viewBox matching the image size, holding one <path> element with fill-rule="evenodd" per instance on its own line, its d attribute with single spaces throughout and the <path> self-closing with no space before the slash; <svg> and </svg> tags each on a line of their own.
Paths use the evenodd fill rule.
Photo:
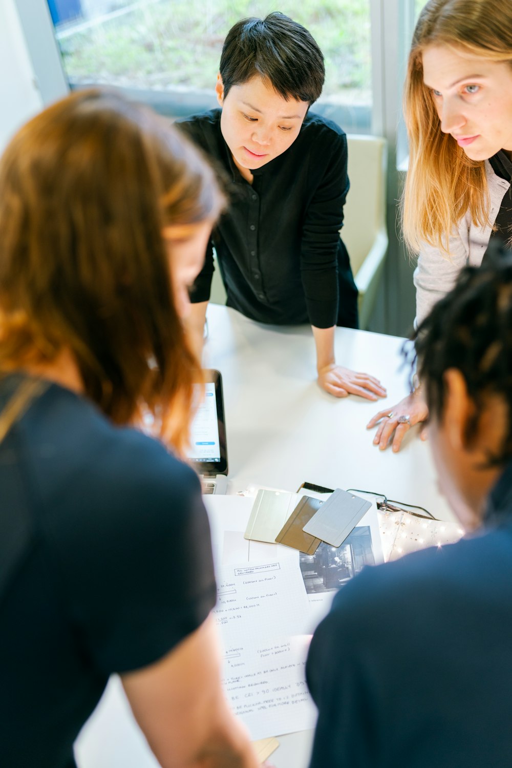
<svg viewBox="0 0 512 768">
<path fill-rule="evenodd" d="M 511 585 L 512 463 L 477 535 L 336 595 L 306 667 L 311 768 L 510 766 Z"/>
</svg>

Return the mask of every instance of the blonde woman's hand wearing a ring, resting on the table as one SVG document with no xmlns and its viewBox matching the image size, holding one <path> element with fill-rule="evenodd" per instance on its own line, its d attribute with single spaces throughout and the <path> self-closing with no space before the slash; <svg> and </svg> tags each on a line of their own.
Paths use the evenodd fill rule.
<svg viewBox="0 0 512 768">
<path fill-rule="evenodd" d="M 408 420 L 399 422 L 400 416 L 402 419 L 408 417 Z M 366 429 L 372 429 L 372 427 L 378 424 L 373 444 L 378 445 L 378 448 L 384 451 L 392 438 L 392 449 L 396 453 L 400 449 L 401 441 L 410 427 L 418 424 L 418 422 L 426 421 L 427 417 L 427 404 L 421 396 L 421 389 L 416 389 L 411 395 L 398 402 L 396 406 L 379 411 L 373 419 L 370 419 Z M 420 436 L 422 440 L 427 439 L 426 428 L 421 430 Z"/>
</svg>

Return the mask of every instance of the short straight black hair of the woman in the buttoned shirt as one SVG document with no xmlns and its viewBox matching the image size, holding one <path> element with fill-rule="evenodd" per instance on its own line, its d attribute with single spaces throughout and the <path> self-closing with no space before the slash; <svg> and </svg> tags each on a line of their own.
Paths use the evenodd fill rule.
<svg viewBox="0 0 512 768">
<path fill-rule="evenodd" d="M 286 100 L 312 104 L 325 79 L 322 51 L 305 27 L 282 13 L 243 18 L 227 33 L 220 56 L 224 98 L 256 74 Z"/>
</svg>

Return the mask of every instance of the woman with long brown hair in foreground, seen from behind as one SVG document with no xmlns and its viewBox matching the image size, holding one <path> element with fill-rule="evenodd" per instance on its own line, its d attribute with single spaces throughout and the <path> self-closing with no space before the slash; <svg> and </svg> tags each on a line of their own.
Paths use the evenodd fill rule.
<svg viewBox="0 0 512 768">
<path fill-rule="evenodd" d="M 0 763 L 70 768 L 111 673 L 162 766 L 256 758 L 224 700 L 187 286 L 223 206 L 166 123 L 82 91 L 0 162 Z"/>
</svg>

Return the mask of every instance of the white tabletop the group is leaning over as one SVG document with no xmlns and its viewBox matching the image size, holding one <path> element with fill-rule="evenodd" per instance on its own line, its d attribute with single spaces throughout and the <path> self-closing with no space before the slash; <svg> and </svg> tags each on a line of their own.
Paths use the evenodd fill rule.
<svg viewBox="0 0 512 768">
<path fill-rule="evenodd" d="M 229 492 L 248 485 L 296 490 L 303 481 L 328 488 L 360 488 L 418 504 L 454 519 L 438 494 L 428 444 L 411 429 L 398 454 L 380 452 L 365 429 L 378 410 L 408 391 L 401 367 L 403 339 L 339 328 L 336 359 L 372 373 L 388 389 L 377 403 L 335 399 L 315 383 L 315 347 L 308 326 L 276 328 L 234 310 L 210 305 L 203 365 L 223 375 Z M 381 405 L 382 402 L 382 405 Z M 306 768 L 310 732 L 279 737 L 270 762 Z M 79 768 L 155 768 L 114 679 L 77 743 Z"/>
</svg>

